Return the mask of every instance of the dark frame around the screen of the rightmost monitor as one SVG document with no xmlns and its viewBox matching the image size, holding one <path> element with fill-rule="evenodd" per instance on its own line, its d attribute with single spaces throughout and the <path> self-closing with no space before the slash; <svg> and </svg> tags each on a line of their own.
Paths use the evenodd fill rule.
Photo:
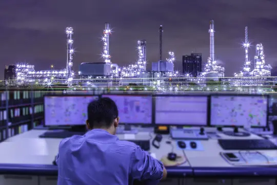
<svg viewBox="0 0 277 185">
<path fill-rule="evenodd" d="M 269 113 L 268 113 L 268 110 L 269 110 L 269 100 L 268 100 L 268 99 L 269 99 L 269 98 L 268 98 L 268 97 L 269 97 L 269 95 L 258 95 L 258 94 L 253 94 L 253 95 L 249 95 L 249 94 L 235 94 L 235 95 L 234 95 L 234 94 L 223 94 L 223 95 L 222 95 L 222 94 L 217 94 L 217 95 L 216 95 L 216 94 L 214 94 L 214 95 L 210 95 L 210 102 L 209 102 L 209 104 L 210 104 L 210 109 L 209 109 L 209 110 L 210 110 L 210 112 L 209 112 L 209 115 L 210 115 L 209 123 L 210 123 L 210 124 L 209 124 L 209 126 L 210 126 L 210 127 L 222 127 L 222 128 L 230 128 L 230 127 L 233 128 L 233 127 L 238 127 L 238 128 L 244 128 L 244 125 L 236 126 L 236 125 L 212 125 L 212 124 L 211 124 L 211 121 L 212 121 L 212 120 L 211 120 L 211 104 L 212 104 L 211 101 L 212 101 L 212 97 L 213 97 L 213 96 L 225 96 L 225 97 L 226 97 L 226 96 L 227 96 L 227 97 L 228 97 L 228 96 L 229 96 L 229 97 L 230 97 L 230 96 L 237 96 L 237 97 L 238 97 L 238 96 L 241 96 L 241 97 L 246 97 L 246 96 L 251 97 L 251 96 L 254 96 L 254 97 L 265 97 L 265 98 L 267 99 L 266 126 L 252 126 L 252 125 L 251 125 L 251 128 L 266 128 L 266 127 L 268 127 L 268 117 L 269 117 Z"/>
</svg>

